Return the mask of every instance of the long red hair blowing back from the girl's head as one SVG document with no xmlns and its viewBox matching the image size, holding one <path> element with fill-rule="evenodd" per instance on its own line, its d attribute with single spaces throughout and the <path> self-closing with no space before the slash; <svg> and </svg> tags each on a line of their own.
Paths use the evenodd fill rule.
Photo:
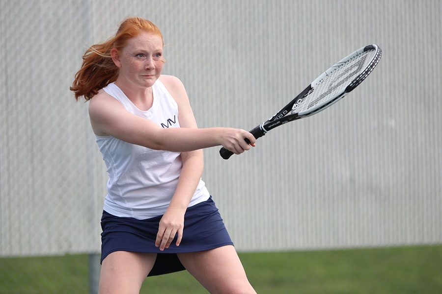
<svg viewBox="0 0 442 294">
<path fill-rule="evenodd" d="M 74 91 L 77 101 L 82 96 L 86 101 L 91 99 L 98 94 L 98 90 L 116 80 L 118 68 L 112 61 L 111 49 L 123 49 L 129 39 L 141 32 L 154 33 L 163 40 L 160 29 L 151 21 L 131 17 L 121 23 L 114 37 L 104 43 L 92 45 L 84 52 L 82 67 L 75 74 L 72 87 L 69 88 Z"/>
</svg>

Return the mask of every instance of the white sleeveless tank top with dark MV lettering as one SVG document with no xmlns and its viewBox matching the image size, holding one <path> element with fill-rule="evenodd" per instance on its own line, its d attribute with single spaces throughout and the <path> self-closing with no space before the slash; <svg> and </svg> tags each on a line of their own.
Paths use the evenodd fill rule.
<svg viewBox="0 0 442 294">
<path fill-rule="evenodd" d="M 152 86 L 153 104 L 146 111 L 139 110 L 114 83 L 103 90 L 139 117 L 163 128 L 180 127 L 178 105 L 160 80 Z M 154 150 L 112 136 L 96 136 L 96 139 L 109 174 L 104 210 L 118 217 L 138 220 L 164 214 L 180 176 L 180 153 Z M 200 179 L 189 207 L 209 197 Z"/>
</svg>

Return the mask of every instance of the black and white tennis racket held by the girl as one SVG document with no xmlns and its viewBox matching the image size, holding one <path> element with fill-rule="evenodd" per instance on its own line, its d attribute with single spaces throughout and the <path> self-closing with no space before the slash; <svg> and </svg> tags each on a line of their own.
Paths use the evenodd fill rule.
<svg viewBox="0 0 442 294">
<path fill-rule="evenodd" d="M 258 139 L 277 126 L 326 109 L 353 91 L 373 71 L 381 55 L 382 50 L 375 44 L 356 50 L 318 76 L 296 98 L 250 133 Z M 250 143 L 248 139 L 246 142 Z M 220 154 L 228 159 L 233 152 L 222 147 Z"/>
</svg>

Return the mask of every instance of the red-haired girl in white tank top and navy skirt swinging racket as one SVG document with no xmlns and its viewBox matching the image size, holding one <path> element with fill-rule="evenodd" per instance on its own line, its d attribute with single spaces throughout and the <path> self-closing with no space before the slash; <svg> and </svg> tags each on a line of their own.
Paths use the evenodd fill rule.
<svg viewBox="0 0 442 294">
<path fill-rule="evenodd" d="M 201 180 L 201 148 L 239 154 L 249 132 L 198 129 L 181 81 L 162 75 L 156 25 L 126 19 L 91 46 L 70 88 L 89 116 L 109 180 L 99 293 L 139 293 L 148 275 L 188 270 L 211 293 L 255 293 Z"/>
</svg>

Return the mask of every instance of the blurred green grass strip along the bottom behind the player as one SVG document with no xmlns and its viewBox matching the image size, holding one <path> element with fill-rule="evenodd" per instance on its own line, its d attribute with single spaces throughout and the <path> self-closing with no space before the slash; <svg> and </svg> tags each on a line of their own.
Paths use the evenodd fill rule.
<svg viewBox="0 0 442 294">
<path fill-rule="evenodd" d="M 442 246 L 241 253 L 259 294 L 442 293 Z M 0 293 L 88 293 L 87 256 L 2 258 Z M 187 271 L 149 277 L 141 292 L 207 293 Z"/>
</svg>

